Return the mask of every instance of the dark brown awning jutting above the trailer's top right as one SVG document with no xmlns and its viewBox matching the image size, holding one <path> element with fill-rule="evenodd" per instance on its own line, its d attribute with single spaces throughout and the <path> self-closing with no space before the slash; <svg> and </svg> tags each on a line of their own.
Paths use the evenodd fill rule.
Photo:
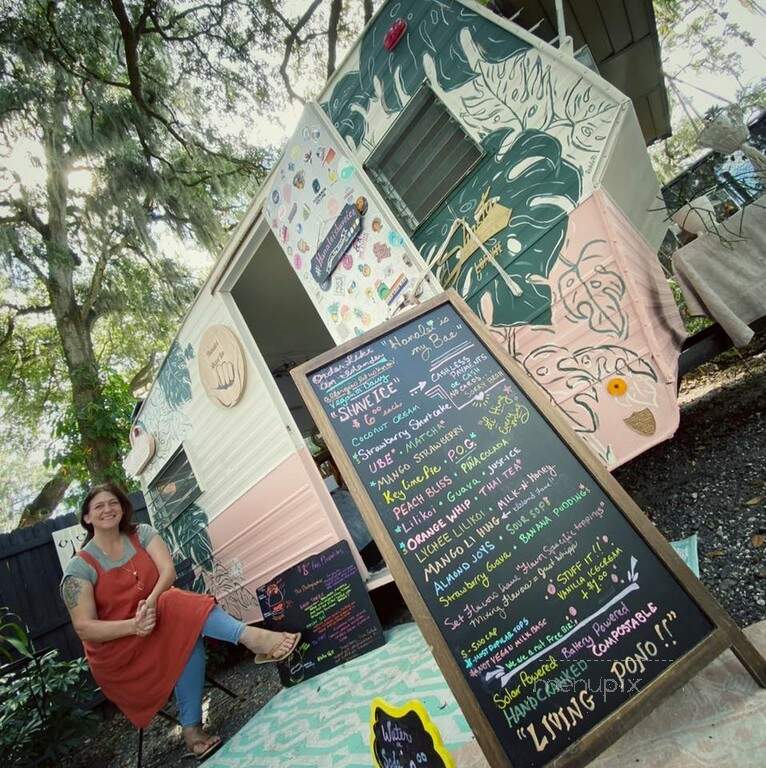
<svg viewBox="0 0 766 768">
<path fill-rule="evenodd" d="M 555 0 L 494 0 L 546 42 L 557 36 Z M 647 144 L 672 133 L 651 0 L 564 0 L 574 50 L 588 46 L 599 74 L 633 101 Z"/>
</svg>

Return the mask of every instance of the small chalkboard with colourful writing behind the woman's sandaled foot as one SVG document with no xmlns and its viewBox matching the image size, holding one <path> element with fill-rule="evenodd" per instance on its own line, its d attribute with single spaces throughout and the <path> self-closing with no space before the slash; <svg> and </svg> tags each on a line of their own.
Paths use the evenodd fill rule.
<svg viewBox="0 0 766 768">
<path fill-rule="evenodd" d="M 256 591 L 267 629 L 301 633 L 292 655 L 277 664 L 285 686 L 386 642 L 345 540 L 301 560 Z"/>
</svg>

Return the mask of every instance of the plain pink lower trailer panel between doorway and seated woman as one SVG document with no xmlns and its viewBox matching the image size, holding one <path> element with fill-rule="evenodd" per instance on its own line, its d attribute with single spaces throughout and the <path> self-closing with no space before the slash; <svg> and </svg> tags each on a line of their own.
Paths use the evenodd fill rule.
<svg viewBox="0 0 766 768">
<path fill-rule="evenodd" d="M 208 591 L 243 621 L 259 621 L 256 587 L 339 541 L 353 541 L 311 455 L 283 461 L 208 527 L 215 571 Z M 358 559 L 363 577 L 366 570 Z"/>
</svg>

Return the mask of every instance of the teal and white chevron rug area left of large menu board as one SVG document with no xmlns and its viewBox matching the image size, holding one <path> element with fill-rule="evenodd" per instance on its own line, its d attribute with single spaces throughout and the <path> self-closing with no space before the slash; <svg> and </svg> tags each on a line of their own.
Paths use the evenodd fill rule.
<svg viewBox="0 0 766 768">
<path fill-rule="evenodd" d="M 471 731 L 416 624 L 386 632 L 386 644 L 281 690 L 205 768 L 369 768 L 370 703 L 419 699 L 454 754 Z"/>
</svg>

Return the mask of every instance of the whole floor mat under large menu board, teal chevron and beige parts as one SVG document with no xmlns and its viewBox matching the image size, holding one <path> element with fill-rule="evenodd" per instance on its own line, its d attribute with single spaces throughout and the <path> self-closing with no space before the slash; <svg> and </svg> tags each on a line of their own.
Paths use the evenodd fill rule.
<svg viewBox="0 0 766 768">
<path fill-rule="evenodd" d="M 766 651 L 766 621 L 747 630 Z M 206 768 L 369 768 L 370 702 L 420 699 L 460 768 L 487 768 L 415 624 L 382 648 L 280 691 Z M 593 768 L 762 768 L 766 690 L 730 651 L 629 731 Z"/>
</svg>

